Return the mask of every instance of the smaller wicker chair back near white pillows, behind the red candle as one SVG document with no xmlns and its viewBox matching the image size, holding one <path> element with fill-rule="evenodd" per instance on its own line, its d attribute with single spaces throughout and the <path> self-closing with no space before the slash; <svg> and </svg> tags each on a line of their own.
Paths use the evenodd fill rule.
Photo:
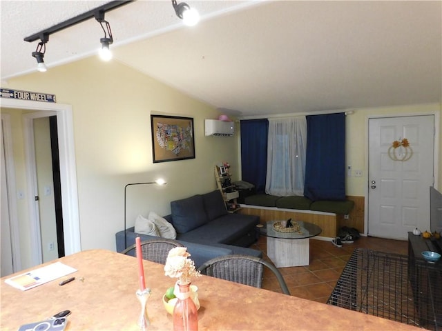
<svg viewBox="0 0 442 331">
<path fill-rule="evenodd" d="M 169 250 L 175 247 L 183 247 L 183 245 L 177 241 L 171 239 L 153 239 L 141 242 L 141 251 L 144 260 L 166 264 L 167 254 Z M 129 246 L 123 250 L 122 254 L 132 255 L 135 257 L 136 244 Z"/>
</svg>

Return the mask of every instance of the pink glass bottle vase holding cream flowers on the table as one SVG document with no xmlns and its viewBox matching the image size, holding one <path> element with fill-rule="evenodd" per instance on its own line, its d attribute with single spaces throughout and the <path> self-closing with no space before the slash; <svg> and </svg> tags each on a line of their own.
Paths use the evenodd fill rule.
<svg viewBox="0 0 442 331">
<path fill-rule="evenodd" d="M 199 277 L 195 263 L 185 247 L 175 247 L 169 251 L 164 265 L 166 276 L 177 278 L 174 294 L 178 298 L 173 308 L 173 330 L 198 330 L 198 308 L 191 298 L 191 278 Z"/>
</svg>

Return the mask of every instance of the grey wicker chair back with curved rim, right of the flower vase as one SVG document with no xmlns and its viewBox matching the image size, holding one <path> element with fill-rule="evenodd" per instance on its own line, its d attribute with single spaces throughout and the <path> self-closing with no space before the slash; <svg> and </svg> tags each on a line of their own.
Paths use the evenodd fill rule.
<svg viewBox="0 0 442 331">
<path fill-rule="evenodd" d="M 273 263 L 258 257 L 240 254 L 224 255 L 206 261 L 198 270 L 207 276 L 261 288 L 264 266 L 275 274 L 282 292 L 290 295 L 287 284 L 278 268 Z"/>
</svg>

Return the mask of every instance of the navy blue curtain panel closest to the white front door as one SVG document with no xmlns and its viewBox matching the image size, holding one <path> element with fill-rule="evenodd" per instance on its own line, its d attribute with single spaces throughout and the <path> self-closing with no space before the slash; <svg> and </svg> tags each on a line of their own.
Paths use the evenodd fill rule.
<svg viewBox="0 0 442 331">
<path fill-rule="evenodd" d="M 345 114 L 307 116 L 304 196 L 345 200 Z"/>
</svg>

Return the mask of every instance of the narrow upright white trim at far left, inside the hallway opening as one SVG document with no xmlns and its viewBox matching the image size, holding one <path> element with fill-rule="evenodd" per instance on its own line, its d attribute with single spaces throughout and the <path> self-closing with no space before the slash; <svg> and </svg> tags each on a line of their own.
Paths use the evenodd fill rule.
<svg viewBox="0 0 442 331">
<path fill-rule="evenodd" d="M 6 178 L 8 180 L 8 210 L 13 261 L 12 271 L 18 272 L 21 270 L 20 230 L 17 210 L 17 186 L 15 185 L 15 165 L 12 152 L 12 129 L 10 114 L 1 114 L 1 121 L 3 122 L 1 130 L 3 131 L 3 146 L 6 165 L 5 170 Z"/>
</svg>

